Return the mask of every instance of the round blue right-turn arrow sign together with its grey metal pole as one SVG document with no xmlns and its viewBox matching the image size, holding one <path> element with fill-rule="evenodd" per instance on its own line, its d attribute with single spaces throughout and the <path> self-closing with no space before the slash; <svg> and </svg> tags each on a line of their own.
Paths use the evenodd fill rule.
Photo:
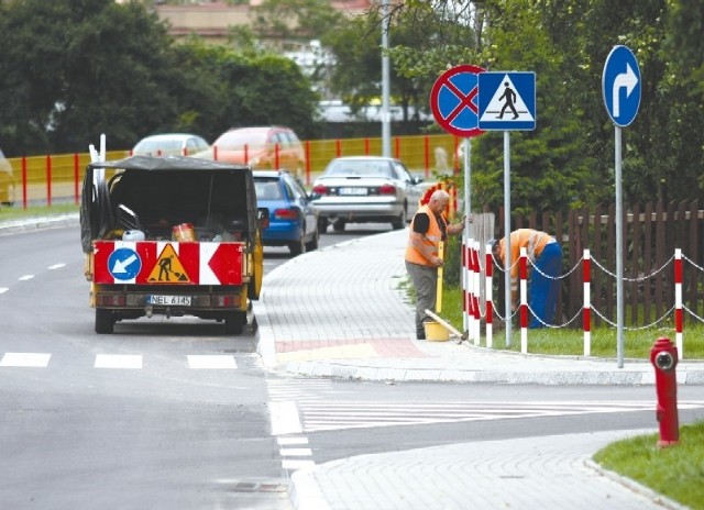
<svg viewBox="0 0 704 510">
<path fill-rule="evenodd" d="M 616 185 L 616 357 L 624 367 L 624 213 L 622 199 L 622 133 L 640 107 L 640 68 L 626 46 L 614 46 L 602 75 L 602 95 L 614 122 L 614 164 Z"/>
</svg>

